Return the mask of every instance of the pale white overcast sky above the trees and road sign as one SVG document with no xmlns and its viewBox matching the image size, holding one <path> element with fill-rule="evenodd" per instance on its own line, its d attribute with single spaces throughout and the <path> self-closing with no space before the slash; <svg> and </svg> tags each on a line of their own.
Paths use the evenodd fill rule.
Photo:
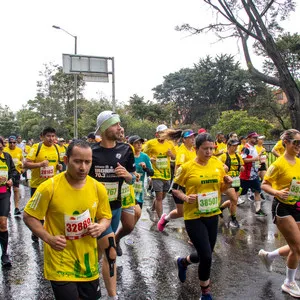
<svg viewBox="0 0 300 300">
<path fill-rule="evenodd" d="M 300 0 L 284 24 L 299 29 Z M 188 36 L 174 30 L 190 23 L 204 26 L 213 16 L 202 0 L 11 0 L 1 1 L 1 104 L 21 109 L 36 95 L 39 71 L 49 62 L 62 65 L 62 53 L 115 57 L 116 99 L 127 102 L 133 94 L 153 99 L 151 89 L 163 76 L 192 67 L 206 55 L 233 54 L 244 66 L 235 40 L 216 42 L 213 35 Z M 87 99 L 111 97 L 110 83 L 88 83 Z"/>
</svg>

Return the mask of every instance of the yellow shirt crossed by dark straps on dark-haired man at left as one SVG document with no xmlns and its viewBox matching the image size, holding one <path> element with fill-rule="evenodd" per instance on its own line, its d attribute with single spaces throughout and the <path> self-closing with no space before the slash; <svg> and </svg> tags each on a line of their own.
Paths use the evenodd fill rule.
<svg viewBox="0 0 300 300">
<path fill-rule="evenodd" d="M 47 159 L 49 161 L 49 165 L 48 167 L 31 169 L 30 187 L 32 188 L 37 188 L 42 182 L 56 175 L 57 165 L 59 164 L 59 155 L 54 145 L 47 147 L 44 143 L 42 143 L 38 156 L 36 156 L 38 146 L 39 143 L 34 144 L 26 158 L 35 163 L 42 162 Z"/>
</svg>

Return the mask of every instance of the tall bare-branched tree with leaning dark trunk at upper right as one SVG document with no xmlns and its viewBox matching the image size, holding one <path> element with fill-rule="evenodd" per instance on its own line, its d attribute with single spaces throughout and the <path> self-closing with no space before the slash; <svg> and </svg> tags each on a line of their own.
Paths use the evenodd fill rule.
<svg viewBox="0 0 300 300">
<path fill-rule="evenodd" d="M 300 130 L 300 90 L 274 40 L 276 34 L 282 32 L 278 19 L 286 19 L 289 13 L 295 10 L 295 2 L 293 0 L 242 0 L 240 2 L 204 0 L 204 2 L 215 12 L 215 23 L 202 28 L 184 24 L 176 29 L 187 30 L 193 34 L 214 31 L 220 39 L 228 37 L 241 39 L 249 71 L 259 80 L 278 86 L 285 92 L 292 126 Z M 255 68 L 248 49 L 249 39 L 261 45 L 274 64 L 278 76 L 269 76 Z"/>
</svg>

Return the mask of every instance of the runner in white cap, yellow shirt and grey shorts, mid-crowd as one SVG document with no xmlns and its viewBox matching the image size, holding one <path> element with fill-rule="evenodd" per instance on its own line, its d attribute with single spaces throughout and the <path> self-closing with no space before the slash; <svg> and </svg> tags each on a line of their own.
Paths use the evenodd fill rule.
<svg viewBox="0 0 300 300">
<path fill-rule="evenodd" d="M 162 216 L 162 201 L 170 189 L 171 167 L 170 160 L 175 159 L 175 148 L 172 142 L 163 137 L 164 131 L 168 129 L 161 124 L 156 128 L 156 138 L 147 142 L 144 152 L 150 157 L 154 175 L 152 176 L 155 199 L 152 208 L 147 208 L 150 219 L 153 221 L 153 212 L 156 211 L 158 218 Z"/>
</svg>

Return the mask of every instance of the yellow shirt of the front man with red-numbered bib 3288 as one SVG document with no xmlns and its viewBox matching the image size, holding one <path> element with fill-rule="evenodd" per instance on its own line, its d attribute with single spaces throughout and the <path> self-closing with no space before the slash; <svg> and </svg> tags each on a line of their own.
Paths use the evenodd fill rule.
<svg viewBox="0 0 300 300">
<path fill-rule="evenodd" d="M 54 281 L 92 281 L 99 277 L 97 239 L 84 235 L 95 218 L 111 219 L 105 187 L 87 176 L 81 189 L 73 188 L 62 172 L 42 183 L 25 212 L 42 220 L 53 236 L 64 235 L 67 246 L 56 251 L 44 243 L 45 278 Z"/>
</svg>

